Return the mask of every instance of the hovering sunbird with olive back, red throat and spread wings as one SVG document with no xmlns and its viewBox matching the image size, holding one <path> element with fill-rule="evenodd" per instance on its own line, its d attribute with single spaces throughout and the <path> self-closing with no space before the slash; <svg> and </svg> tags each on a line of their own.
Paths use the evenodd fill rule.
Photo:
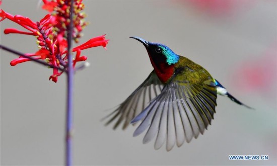
<svg viewBox="0 0 277 166">
<path fill-rule="evenodd" d="M 105 125 L 115 121 L 113 129 L 122 123 L 122 129 L 126 129 L 129 124 L 141 121 L 133 136 L 147 130 L 144 144 L 155 138 L 155 149 L 166 142 L 166 150 L 170 151 L 175 144 L 180 147 L 185 141 L 189 143 L 193 137 L 197 138 L 211 125 L 217 95 L 252 109 L 233 97 L 206 69 L 177 55 L 168 46 L 141 37 L 129 38 L 145 46 L 154 70 L 105 117 L 109 118 Z"/>
</svg>

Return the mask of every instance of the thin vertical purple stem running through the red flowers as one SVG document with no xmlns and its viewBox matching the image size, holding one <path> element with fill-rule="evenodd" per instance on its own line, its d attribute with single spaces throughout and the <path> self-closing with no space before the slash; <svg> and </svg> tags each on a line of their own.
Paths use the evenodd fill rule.
<svg viewBox="0 0 277 166">
<path fill-rule="evenodd" d="M 67 103 L 66 103 L 66 124 L 65 124 L 65 164 L 72 165 L 72 132 L 73 132 L 73 91 L 74 91 L 74 68 L 72 61 L 72 34 L 73 34 L 73 4 L 71 0 L 70 25 L 67 30 Z"/>
</svg>

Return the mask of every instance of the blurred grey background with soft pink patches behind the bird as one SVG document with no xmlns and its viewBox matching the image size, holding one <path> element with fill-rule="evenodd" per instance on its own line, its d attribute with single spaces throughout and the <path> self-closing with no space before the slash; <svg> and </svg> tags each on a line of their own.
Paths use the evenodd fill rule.
<svg viewBox="0 0 277 166">
<path fill-rule="evenodd" d="M 91 66 L 75 78 L 76 165 L 276 165 L 277 1 L 84 1 L 87 21 L 80 43 L 107 34 L 107 48 L 83 51 Z M 38 1 L 4 0 L 2 9 L 39 21 Z M 36 38 L 4 35 L 1 44 L 37 51 Z M 205 67 L 249 110 L 218 97 L 204 135 L 166 152 L 142 144 L 134 127 L 112 130 L 100 119 L 153 70 L 140 36 L 168 45 Z M 17 56 L 1 50 L 1 164 L 61 165 L 64 149 L 65 75 L 33 62 L 10 66 Z M 109 110 L 109 111 L 105 111 Z M 228 155 L 269 155 L 269 160 L 231 161 Z"/>
</svg>

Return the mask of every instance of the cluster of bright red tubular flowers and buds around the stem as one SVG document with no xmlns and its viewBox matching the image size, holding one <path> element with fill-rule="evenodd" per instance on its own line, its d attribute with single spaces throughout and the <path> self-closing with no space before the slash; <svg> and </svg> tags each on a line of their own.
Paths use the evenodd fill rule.
<svg viewBox="0 0 277 166">
<path fill-rule="evenodd" d="M 68 60 L 73 60 L 73 65 L 75 67 L 77 62 L 87 60 L 86 56 L 81 56 L 81 50 L 103 46 L 106 49 L 106 45 L 109 40 L 105 39 L 105 35 L 98 36 L 90 39 L 89 41 L 81 44 L 78 47 L 73 48 L 73 52 L 76 52 L 74 59 L 68 59 L 67 56 L 67 40 L 66 31 L 69 25 L 69 9 L 70 1 L 68 0 L 52 0 L 50 2 L 44 0 L 43 8 L 47 9 L 52 14 L 47 14 L 39 22 L 33 22 L 27 17 L 20 15 L 11 15 L 0 9 L 0 21 L 9 19 L 27 31 L 21 31 L 15 28 L 8 28 L 4 30 L 5 34 L 16 33 L 24 35 L 33 35 L 37 38 L 37 44 L 39 45 L 39 50 L 35 53 L 27 53 L 26 56 L 33 57 L 35 59 L 45 60 L 48 64 L 56 66 L 58 68 L 66 69 Z M 82 1 L 74 1 L 74 33 L 73 38 L 75 41 L 80 38 L 80 33 L 86 23 L 83 21 L 84 15 L 80 11 L 84 8 Z M 14 66 L 18 63 L 30 61 L 29 58 L 20 56 L 17 59 L 11 61 L 11 65 Z M 53 74 L 49 77 L 52 81 L 56 82 L 57 77 L 62 74 L 57 68 L 53 68 Z"/>
</svg>

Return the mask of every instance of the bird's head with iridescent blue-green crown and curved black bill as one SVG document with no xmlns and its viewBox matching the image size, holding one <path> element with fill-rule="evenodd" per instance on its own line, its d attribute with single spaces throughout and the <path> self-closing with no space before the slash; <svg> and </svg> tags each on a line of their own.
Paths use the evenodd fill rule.
<svg viewBox="0 0 277 166">
<path fill-rule="evenodd" d="M 130 37 L 144 44 L 150 58 L 154 63 L 175 64 L 179 60 L 179 55 L 175 54 L 168 46 L 160 43 L 152 43 L 140 37 Z"/>
</svg>

